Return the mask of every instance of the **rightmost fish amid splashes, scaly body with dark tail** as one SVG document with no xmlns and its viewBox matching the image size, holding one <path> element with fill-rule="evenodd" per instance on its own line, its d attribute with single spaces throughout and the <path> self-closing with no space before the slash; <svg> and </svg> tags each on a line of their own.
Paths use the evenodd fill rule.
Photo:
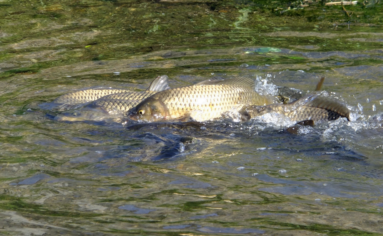
<svg viewBox="0 0 383 236">
<path fill-rule="evenodd" d="M 250 105 L 242 108 L 242 120 L 248 120 L 266 113 L 278 113 L 287 116 L 291 121 L 336 120 L 346 117 L 350 120 L 350 110 L 345 105 L 321 97 L 322 92 L 308 94 L 288 104 L 272 104 L 267 106 Z"/>
</svg>

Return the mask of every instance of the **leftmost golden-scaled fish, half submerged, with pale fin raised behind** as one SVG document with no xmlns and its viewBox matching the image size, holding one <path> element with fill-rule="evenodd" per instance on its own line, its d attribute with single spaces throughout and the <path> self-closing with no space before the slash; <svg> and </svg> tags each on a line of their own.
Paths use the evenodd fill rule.
<svg viewBox="0 0 383 236">
<path fill-rule="evenodd" d="M 102 99 L 111 100 L 143 100 L 156 92 L 169 89 L 167 83 L 168 77 L 166 75 L 158 76 L 152 81 L 146 91 L 129 91 L 126 89 L 85 89 L 81 91 L 71 92 L 69 94 L 57 97 L 51 103 L 52 107 L 57 107 L 58 110 L 68 110 L 73 108 L 82 107 L 89 102 L 99 100 L 100 104 L 103 103 Z M 129 103 L 129 102 L 128 102 Z M 128 109 L 126 109 L 128 110 Z"/>
</svg>

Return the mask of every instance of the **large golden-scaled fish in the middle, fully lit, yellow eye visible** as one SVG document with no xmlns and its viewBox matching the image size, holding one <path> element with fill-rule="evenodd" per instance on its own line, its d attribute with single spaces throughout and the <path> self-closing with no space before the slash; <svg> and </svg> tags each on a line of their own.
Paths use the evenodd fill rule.
<svg viewBox="0 0 383 236">
<path fill-rule="evenodd" d="M 249 77 L 202 81 L 157 92 L 129 110 L 128 117 L 149 122 L 178 118 L 213 120 L 226 112 L 238 112 L 244 105 L 270 103 L 254 89 L 254 80 Z"/>
</svg>

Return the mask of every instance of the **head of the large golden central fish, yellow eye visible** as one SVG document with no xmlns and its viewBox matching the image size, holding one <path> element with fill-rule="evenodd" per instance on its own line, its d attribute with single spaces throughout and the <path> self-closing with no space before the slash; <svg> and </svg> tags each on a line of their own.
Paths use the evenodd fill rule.
<svg viewBox="0 0 383 236">
<path fill-rule="evenodd" d="M 133 107 L 128 112 L 129 119 L 139 121 L 159 121 L 166 120 L 168 109 L 164 103 L 158 99 L 145 99 L 136 107 Z"/>
</svg>

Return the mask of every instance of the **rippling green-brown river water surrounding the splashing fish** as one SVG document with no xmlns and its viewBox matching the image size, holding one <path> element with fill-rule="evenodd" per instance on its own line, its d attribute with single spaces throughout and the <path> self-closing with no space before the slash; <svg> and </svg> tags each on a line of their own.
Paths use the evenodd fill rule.
<svg viewBox="0 0 383 236">
<path fill-rule="evenodd" d="M 0 0 L 1 232 L 383 233 L 381 3 L 344 6 L 350 30 L 341 6 L 272 4 Z M 324 76 L 351 121 L 291 134 L 275 114 L 69 122 L 39 106 L 83 88 L 141 91 L 162 74 L 170 87 L 253 76 L 287 97 Z"/>
</svg>

